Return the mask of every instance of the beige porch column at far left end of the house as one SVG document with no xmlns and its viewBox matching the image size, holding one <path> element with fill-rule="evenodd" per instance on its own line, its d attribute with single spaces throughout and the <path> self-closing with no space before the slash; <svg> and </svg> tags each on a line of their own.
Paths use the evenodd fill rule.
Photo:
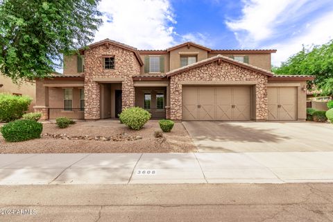
<svg viewBox="0 0 333 222">
<path fill-rule="evenodd" d="M 44 87 L 44 80 L 36 80 L 35 112 L 42 113 L 42 120 L 49 119 L 49 87 Z"/>
</svg>

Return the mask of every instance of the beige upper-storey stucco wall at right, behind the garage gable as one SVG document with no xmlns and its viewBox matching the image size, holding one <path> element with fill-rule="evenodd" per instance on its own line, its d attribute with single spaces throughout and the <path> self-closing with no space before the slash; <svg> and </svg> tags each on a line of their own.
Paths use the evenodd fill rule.
<svg viewBox="0 0 333 222">
<path fill-rule="evenodd" d="M 218 53 L 208 53 L 208 58 L 217 56 Z M 267 54 L 221 54 L 222 56 L 248 56 L 250 65 L 271 71 L 271 53 Z"/>
</svg>

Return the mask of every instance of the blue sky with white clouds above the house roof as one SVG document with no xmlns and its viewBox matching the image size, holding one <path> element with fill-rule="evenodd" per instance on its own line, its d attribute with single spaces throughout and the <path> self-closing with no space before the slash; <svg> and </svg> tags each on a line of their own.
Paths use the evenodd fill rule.
<svg viewBox="0 0 333 222">
<path fill-rule="evenodd" d="M 333 38 L 332 0 L 102 0 L 110 38 L 138 49 L 192 41 L 212 49 L 278 49 L 280 65 L 302 49 Z"/>
</svg>

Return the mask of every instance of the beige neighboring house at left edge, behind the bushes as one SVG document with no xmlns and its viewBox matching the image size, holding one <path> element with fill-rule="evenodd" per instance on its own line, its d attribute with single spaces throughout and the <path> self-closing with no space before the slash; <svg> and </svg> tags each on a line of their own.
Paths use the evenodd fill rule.
<svg viewBox="0 0 333 222">
<path fill-rule="evenodd" d="M 31 98 L 33 98 L 33 101 L 31 102 L 28 111 L 33 112 L 33 106 L 36 102 L 35 83 L 24 82 L 21 85 L 16 85 L 15 83 L 12 83 L 12 80 L 10 78 L 0 74 L 0 93 L 8 93 L 17 96 L 30 96 Z"/>
</svg>

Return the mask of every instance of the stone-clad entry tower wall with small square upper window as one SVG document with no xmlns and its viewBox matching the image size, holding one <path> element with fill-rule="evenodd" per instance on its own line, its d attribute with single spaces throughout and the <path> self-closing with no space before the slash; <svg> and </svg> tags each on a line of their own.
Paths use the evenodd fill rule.
<svg viewBox="0 0 333 222">
<path fill-rule="evenodd" d="M 101 56 L 114 56 L 115 69 L 103 69 Z M 99 83 L 93 78 L 123 78 L 123 108 L 134 106 L 133 76 L 140 73 L 140 65 L 132 51 L 105 44 L 85 51 L 85 119 L 100 119 Z"/>
</svg>

